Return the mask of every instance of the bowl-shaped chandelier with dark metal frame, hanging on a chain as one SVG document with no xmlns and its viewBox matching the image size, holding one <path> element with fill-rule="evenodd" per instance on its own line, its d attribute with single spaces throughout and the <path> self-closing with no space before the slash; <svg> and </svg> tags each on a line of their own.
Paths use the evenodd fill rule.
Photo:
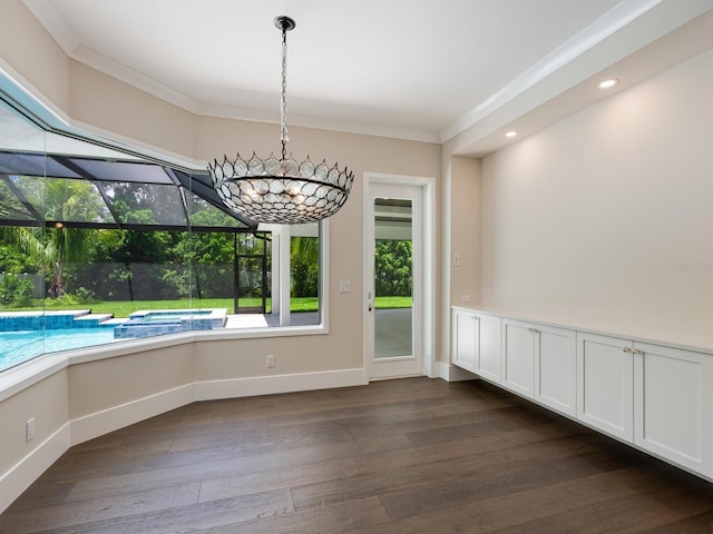
<svg viewBox="0 0 713 534">
<path fill-rule="evenodd" d="M 295 22 L 290 17 L 276 17 L 274 23 L 282 31 L 282 92 L 280 140 L 281 157 L 273 154 L 266 159 L 255 152 L 244 159 L 240 152 L 234 160 L 227 156 L 208 164 L 213 187 L 223 204 L 241 218 L 254 222 L 300 225 L 315 222 L 334 215 L 346 201 L 354 174 L 323 160 L 312 164 L 310 157 L 297 162 L 287 157 L 286 88 L 287 31 Z"/>
</svg>

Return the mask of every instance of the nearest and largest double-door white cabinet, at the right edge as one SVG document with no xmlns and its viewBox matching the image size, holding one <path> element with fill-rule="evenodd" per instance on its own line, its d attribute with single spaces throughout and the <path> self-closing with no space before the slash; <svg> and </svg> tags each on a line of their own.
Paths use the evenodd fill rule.
<svg viewBox="0 0 713 534">
<path fill-rule="evenodd" d="M 578 335 L 583 422 L 713 476 L 713 356 Z"/>
</svg>

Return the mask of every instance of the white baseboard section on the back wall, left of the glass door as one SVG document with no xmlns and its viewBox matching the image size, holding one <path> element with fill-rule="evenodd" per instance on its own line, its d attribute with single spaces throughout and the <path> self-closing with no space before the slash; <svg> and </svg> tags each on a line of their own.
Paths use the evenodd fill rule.
<svg viewBox="0 0 713 534">
<path fill-rule="evenodd" d="M 364 385 L 364 369 L 323 370 L 195 383 L 195 400 L 251 397 Z"/>
</svg>

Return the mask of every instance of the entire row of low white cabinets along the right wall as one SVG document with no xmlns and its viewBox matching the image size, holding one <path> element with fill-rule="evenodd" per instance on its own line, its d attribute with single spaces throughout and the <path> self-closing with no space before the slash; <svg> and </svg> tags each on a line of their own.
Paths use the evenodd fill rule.
<svg viewBox="0 0 713 534">
<path fill-rule="evenodd" d="M 452 363 L 713 479 L 713 354 L 453 308 Z"/>
</svg>

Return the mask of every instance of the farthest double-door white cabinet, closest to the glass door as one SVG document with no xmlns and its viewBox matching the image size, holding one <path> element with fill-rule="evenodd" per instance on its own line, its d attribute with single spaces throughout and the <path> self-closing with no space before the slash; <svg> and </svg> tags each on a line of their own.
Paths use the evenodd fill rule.
<svg viewBox="0 0 713 534">
<path fill-rule="evenodd" d="M 467 308 L 452 309 L 451 362 L 500 382 L 500 318 Z"/>
</svg>

